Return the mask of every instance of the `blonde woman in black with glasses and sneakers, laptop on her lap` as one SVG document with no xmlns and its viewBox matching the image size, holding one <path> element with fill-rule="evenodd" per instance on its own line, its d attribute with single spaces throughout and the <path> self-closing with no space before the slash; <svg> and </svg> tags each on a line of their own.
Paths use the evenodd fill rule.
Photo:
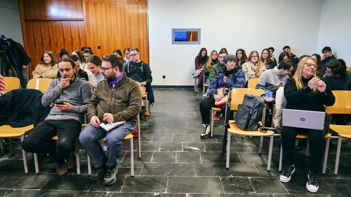
<svg viewBox="0 0 351 197">
<path fill-rule="evenodd" d="M 287 101 L 286 109 L 322 111 L 324 106 L 332 106 L 335 97 L 331 89 L 322 78 L 316 76 L 316 61 L 311 57 L 304 57 L 297 66 L 295 75 L 288 79 L 284 87 Z M 286 117 L 285 117 L 286 118 Z M 282 127 L 283 168 L 279 176 L 280 181 L 288 182 L 295 171 L 294 148 L 298 133 L 307 134 L 310 147 L 310 171 L 307 175 L 307 190 L 317 192 L 318 173 L 322 166 L 324 149 L 324 135 L 329 128 L 328 121 L 324 122 L 324 130 L 296 127 Z"/>
</svg>

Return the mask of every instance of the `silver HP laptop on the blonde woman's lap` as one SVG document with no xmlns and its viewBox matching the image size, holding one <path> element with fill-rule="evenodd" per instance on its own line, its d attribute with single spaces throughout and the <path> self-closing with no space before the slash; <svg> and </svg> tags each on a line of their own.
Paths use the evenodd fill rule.
<svg viewBox="0 0 351 197">
<path fill-rule="evenodd" d="M 283 109 L 283 126 L 323 130 L 325 112 Z"/>
</svg>

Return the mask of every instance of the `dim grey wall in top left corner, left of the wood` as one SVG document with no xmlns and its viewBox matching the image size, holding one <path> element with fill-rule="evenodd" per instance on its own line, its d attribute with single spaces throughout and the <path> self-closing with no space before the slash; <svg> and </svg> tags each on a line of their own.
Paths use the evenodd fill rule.
<svg viewBox="0 0 351 197">
<path fill-rule="evenodd" d="M 12 38 L 23 46 L 20 14 L 16 0 L 0 0 L 0 35 Z"/>
</svg>

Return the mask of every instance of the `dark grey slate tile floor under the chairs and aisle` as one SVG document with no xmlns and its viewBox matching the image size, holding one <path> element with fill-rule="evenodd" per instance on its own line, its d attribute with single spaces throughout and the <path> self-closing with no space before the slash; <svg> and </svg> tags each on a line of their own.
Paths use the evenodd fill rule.
<svg viewBox="0 0 351 197">
<path fill-rule="evenodd" d="M 264 139 L 261 155 L 258 137 L 232 137 L 230 168 L 221 157 L 224 121 L 215 121 L 214 137 L 200 139 L 202 131 L 199 103 L 202 94 L 193 89 L 155 89 L 151 117 L 141 121 L 141 158 L 134 140 L 135 176 L 130 176 L 129 142 L 123 142 L 117 181 L 104 186 L 102 180 L 89 181 L 87 156 L 80 147 L 81 175 L 55 174 L 52 156 L 39 157 L 40 174 L 34 170 L 33 154 L 28 154 L 29 174 L 24 174 L 20 142 L 15 156 L 0 157 L 0 196 L 351 196 L 351 142 L 342 145 L 338 175 L 333 175 L 336 140 L 328 156 L 327 172 L 320 174 L 317 193 L 306 190 L 309 158 L 297 151 L 296 172 L 288 183 L 278 179 L 280 138 L 274 138 L 272 170 L 267 172 L 269 139 Z"/>
</svg>

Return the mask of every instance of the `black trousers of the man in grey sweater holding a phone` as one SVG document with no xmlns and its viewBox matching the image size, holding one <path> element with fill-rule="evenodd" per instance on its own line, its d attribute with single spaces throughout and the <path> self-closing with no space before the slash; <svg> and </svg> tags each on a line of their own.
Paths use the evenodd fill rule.
<svg viewBox="0 0 351 197">
<path fill-rule="evenodd" d="M 37 125 L 23 140 L 22 148 L 27 152 L 47 154 L 56 148 L 55 163 L 61 165 L 74 149 L 74 142 L 81 131 L 82 124 L 76 120 L 46 120 Z M 57 135 L 56 147 L 50 139 Z"/>
</svg>

